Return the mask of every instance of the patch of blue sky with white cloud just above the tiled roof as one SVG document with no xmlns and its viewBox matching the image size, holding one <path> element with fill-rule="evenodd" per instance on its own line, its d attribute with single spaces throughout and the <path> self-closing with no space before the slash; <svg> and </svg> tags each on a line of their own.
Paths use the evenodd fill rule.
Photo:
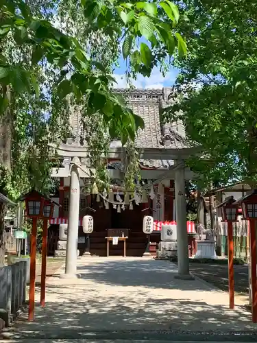
<svg viewBox="0 0 257 343">
<path fill-rule="evenodd" d="M 117 87 L 118 88 L 125 88 L 127 83 L 125 80 L 125 60 L 121 57 L 119 59 L 119 68 L 115 69 L 114 71 L 114 78 L 117 80 Z M 132 83 L 136 88 L 162 88 L 162 87 L 169 87 L 175 83 L 175 79 L 178 75 L 178 69 L 171 67 L 171 69 L 167 72 L 167 74 L 163 77 L 160 70 L 154 67 L 151 76 L 149 78 L 145 78 L 143 75 L 138 75 L 137 80 L 134 80 Z"/>
</svg>

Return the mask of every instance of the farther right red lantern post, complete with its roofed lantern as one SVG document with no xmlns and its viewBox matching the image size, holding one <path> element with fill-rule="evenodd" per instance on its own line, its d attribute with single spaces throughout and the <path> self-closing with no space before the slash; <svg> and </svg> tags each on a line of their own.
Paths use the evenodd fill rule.
<svg viewBox="0 0 257 343">
<path fill-rule="evenodd" d="M 217 207 L 221 208 L 223 222 L 228 223 L 228 289 L 230 294 L 230 309 L 234 309 L 233 222 L 237 222 L 238 204 L 236 204 L 236 200 L 231 196 Z"/>
</svg>

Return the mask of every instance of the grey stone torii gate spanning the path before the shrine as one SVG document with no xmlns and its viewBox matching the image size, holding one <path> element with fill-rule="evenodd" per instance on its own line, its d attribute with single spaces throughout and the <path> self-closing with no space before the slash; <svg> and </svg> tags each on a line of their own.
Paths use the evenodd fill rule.
<svg viewBox="0 0 257 343">
<path fill-rule="evenodd" d="M 151 160 L 167 160 L 172 159 L 175 165 L 168 171 L 160 171 L 158 178 L 175 179 L 175 209 L 176 221 L 178 230 L 178 275 L 180 279 L 192 279 L 189 273 L 188 261 L 188 237 L 186 228 L 186 198 L 185 198 L 185 180 L 192 180 L 195 174 L 185 167 L 184 161 L 186 158 L 197 152 L 196 148 L 188 148 L 184 150 L 162 150 L 146 149 L 140 152 L 140 159 Z M 88 177 L 89 169 L 82 164 L 83 158 L 86 158 L 87 150 L 85 147 L 75 147 L 72 145 L 60 145 L 58 149 L 59 156 L 71 158 L 71 168 L 60 168 L 54 176 L 70 176 L 70 202 L 69 202 L 69 230 L 67 236 L 66 248 L 66 268 L 65 273 L 61 275 L 62 278 L 77 277 L 77 236 L 79 226 L 79 196 L 80 186 L 79 179 L 81 177 Z M 108 158 L 118 159 L 124 156 L 125 148 L 110 148 Z M 67 168 L 68 167 L 68 168 Z M 88 170 L 88 173 L 87 173 Z M 110 170 L 111 174 L 118 177 L 120 171 Z M 154 175 L 154 174 L 153 174 Z"/>
</svg>

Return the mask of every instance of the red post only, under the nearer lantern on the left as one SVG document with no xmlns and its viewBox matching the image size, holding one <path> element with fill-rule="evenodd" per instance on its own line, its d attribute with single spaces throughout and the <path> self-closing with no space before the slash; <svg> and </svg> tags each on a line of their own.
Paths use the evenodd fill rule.
<svg viewBox="0 0 257 343">
<path fill-rule="evenodd" d="M 37 218 L 32 219 L 30 235 L 30 276 L 29 276 L 29 321 L 34 320 L 35 309 L 35 280 L 36 280 L 36 226 Z"/>
</svg>

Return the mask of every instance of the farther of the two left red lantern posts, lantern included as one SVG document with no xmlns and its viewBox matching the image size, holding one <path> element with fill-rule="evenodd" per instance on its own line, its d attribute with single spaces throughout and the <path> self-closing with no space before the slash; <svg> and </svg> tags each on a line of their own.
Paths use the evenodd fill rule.
<svg viewBox="0 0 257 343">
<path fill-rule="evenodd" d="M 47 228 L 48 220 L 53 217 L 54 204 L 51 200 L 45 200 L 42 212 L 43 232 L 42 232 L 42 264 L 41 264 L 41 288 L 40 305 L 45 306 L 45 279 L 47 276 Z"/>
</svg>

